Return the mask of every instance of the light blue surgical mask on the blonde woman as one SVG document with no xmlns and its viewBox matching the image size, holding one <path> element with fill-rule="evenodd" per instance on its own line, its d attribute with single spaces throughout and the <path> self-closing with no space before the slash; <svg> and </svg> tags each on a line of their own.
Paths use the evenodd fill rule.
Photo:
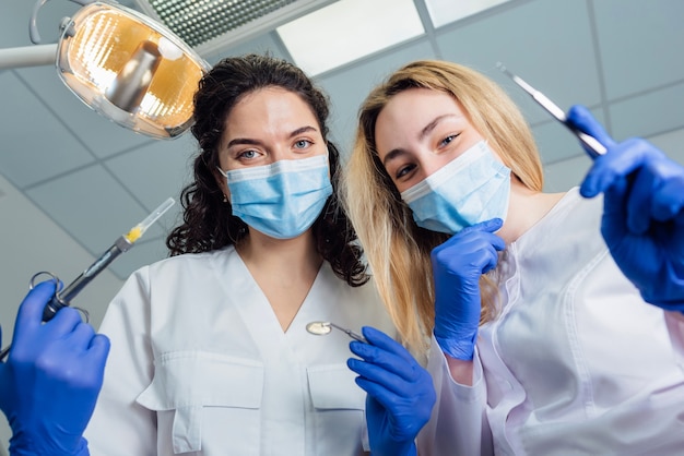
<svg viewBox="0 0 684 456">
<path fill-rule="evenodd" d="M 456 235 L 492 218 L 504 219 L 510 195 L 510 169 L 485 141 L 401 193 L 413 219 L 432 231 Z"/>
</svg>

